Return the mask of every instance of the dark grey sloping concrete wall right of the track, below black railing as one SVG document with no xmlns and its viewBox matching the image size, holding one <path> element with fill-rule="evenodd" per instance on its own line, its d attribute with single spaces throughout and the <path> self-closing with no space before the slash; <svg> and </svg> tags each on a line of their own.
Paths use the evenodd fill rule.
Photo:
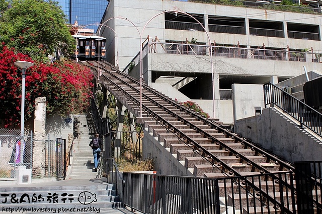
<svg viewBox="0 0 322 214">
<path fill-rule="evenodd" d="M 274 108 L 262 115 L 237 120 L 234 131 L 290 161 L 320 160 L 322 139 Z"/>
</svg>

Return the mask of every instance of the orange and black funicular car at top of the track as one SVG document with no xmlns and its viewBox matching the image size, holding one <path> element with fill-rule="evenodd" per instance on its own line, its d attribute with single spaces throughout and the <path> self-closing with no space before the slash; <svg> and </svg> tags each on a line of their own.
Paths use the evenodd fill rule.
<svg viewBox="0 0 322 214">
<path fill-rule="evenodd" d="M 75 58 L 105 58 L 106 38 L 99 36 L 72 35 L 76 40 Z M 100 42 L 100 45 L 99 45 Z M 100 48 L 100 52 L 99 52 Z"/>
</svg>

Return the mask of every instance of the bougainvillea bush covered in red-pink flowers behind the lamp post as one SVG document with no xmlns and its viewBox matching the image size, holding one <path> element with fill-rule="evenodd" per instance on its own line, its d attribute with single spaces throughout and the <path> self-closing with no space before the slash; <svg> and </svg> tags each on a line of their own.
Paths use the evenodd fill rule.
<svg viewBox="0 0 322 214">
<path fill-rule="evenodd" d="M 16 61 L 35 64 L 26 70 L 25 119 L 33 115 L 35 99 L 40 96 L 46 97 L 49 114 L 67 115 L 87 109 L 93 87 L 89 68 L 72 61 L 44 64 L 14 51 L 6 46 L 0 51 L 0 125 L 20 125 L 22 74 L 14 65 Z"/>
</svg>

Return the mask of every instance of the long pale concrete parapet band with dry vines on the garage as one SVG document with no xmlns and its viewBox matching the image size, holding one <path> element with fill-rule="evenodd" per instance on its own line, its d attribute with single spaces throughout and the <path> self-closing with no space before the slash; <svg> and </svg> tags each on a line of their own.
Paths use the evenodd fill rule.
<svg viewBox="0 0 322 214">
<path fill-rule="evenodd" d="M 210 56 L 187 56 L 161 53 L 148 55 L 149 57 L 152 57 L 149 60 L 151 62 L 150 69 L 152 71 L 171 71 L 178 73 L 192 72 L 197 75 L 200 73 L 211 73 Z M 261 65 L 260 67 L 259 64 Z M 305 65 L 307 71 L 322 71 L 322 63 L 225 57 L 215 57 L 213 65 L 214 73 L 218 73 L 219 75 L 293 77 L 304 73 L 303 65 Z"/>
</svg>

